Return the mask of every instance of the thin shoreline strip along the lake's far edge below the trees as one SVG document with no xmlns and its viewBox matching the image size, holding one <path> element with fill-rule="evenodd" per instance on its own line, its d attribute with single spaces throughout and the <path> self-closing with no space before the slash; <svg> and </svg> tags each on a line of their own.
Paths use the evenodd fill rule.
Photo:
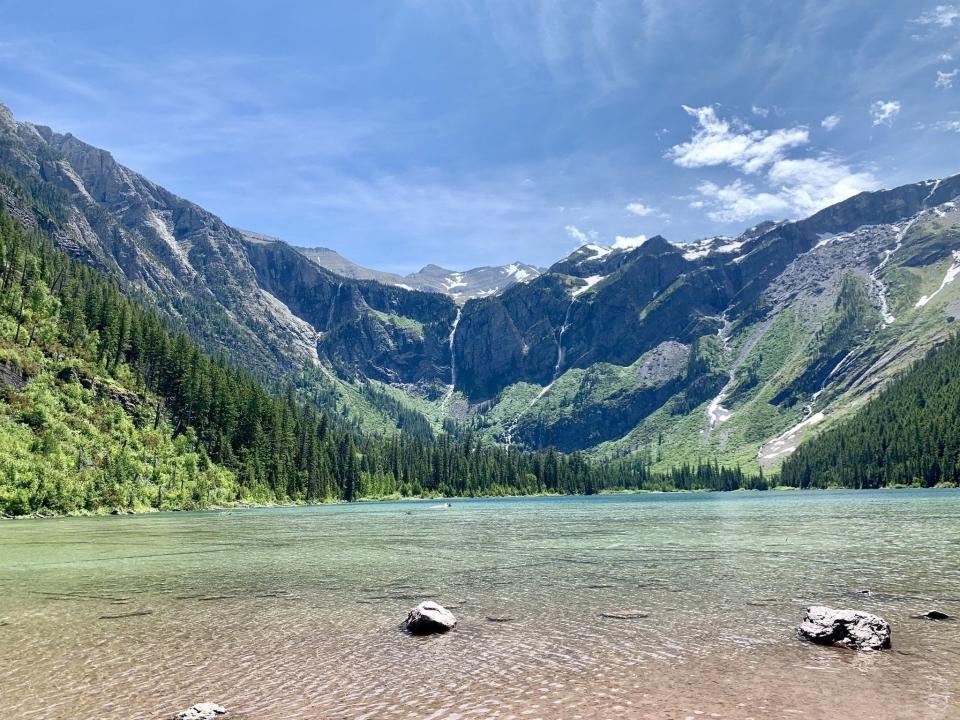
<svg viewBox="0 0 960 720">
<path fill-rule="evenodd" d="M 877 490 L 957 490 L 960 489 L 958 485 L 950 484 L 938 484 L 933 487 L 915 487 L 912 485 L 891 485 L 887 487 L 879 488 L 844 488 L 844 487 L 828 487 L 828 488 L 797 488 L 786 485 L 779 485 L 772 487 L 769 490 L 753 490 L 749 488 L 737 488 L 735 490 L 710 490 L 710 489 L 696 489 L 696 490 L 643 490 L 643 489 L 611 489 L 611 490 L 601 490 L 598 493 L 593 495 L 583 495 L 575 493 L 536 493 L 532 495 L 428 495 L 426 497 L 402 497 L 402 496 L 389 496 L 389 497 L 373 497 L 373 498 L 357 498 L 356 500 L 330 500 L 328 502 L 289 502 L 289 503 L 246 503 L 238 502 L 235 504 L 229 505 L 211 505 L 209 507 L 198 507 L 198 508 L 133 508 L 133 509 L 119 509 L 119 508 L 102 508 L 99 510 L 88 511 L 81 510 L 76 512 L 69 512 L 63 514 L 45 514 L 45 513 L 30 513 L 29 515 L 0 515 L 0 520 L 57 520 L 61 518 L 78 518 L 78 517 L 107 517 L 112 515 L 153 515 L 157 513 L 164 514 L 174 514 L 174 513 L 187 513 L 187 512 L 225 512 L 225 511 L 243 511 L 243 510 L 269 510 L 269 509 L 285 509 L 285 508 L 295 508 L 295 507 L 324 507 L 329 505 L 362 505 L 362 504 L 374 504 L 374 503 L 384 503 L 384 502 L 425 502 L 425 501 L 443 501 L 450 502 L 454 500 L 518 500 L 524 498 L 561 498 L 561 497 L 604 497 L 604 496 L 617 496 L 617 495 L 699 495 L 699 494 L 724 494 L 724 493 L 792 493 L 792 492 L 837 492 L 837 491 L 850 491 L 850 492 L 860 492 L 860 491 L 877 491 Z"/>
</svg>

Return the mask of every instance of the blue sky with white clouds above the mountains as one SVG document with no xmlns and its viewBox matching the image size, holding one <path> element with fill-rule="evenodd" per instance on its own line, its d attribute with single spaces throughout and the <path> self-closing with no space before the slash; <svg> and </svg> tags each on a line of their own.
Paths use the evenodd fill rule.
<svg viewBox="0 0 960 720">
<path fill-rule="evenodd" d="M 960 171 L 960 3 L 0 0 L 0 102 L 409 272 L 684 242 Z"/>
</svg>

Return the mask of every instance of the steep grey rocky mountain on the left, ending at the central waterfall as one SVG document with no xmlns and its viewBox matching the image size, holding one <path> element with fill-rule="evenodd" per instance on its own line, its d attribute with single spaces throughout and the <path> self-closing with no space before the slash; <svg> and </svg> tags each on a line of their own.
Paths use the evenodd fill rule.
<svg viewBox="0 0 960 720">
<path fill-rule="evenodd" d="M 210 352 L 263 377 L 306 372 L 368 428 L 398 418 L 366 381 L 434 396 L 450 375 L 454 302 L 318 267 L 218 217 L 70 134 L 16 122 L 0 105 L 0 199 L 27 227 L 128 287 Z M 36 208 L 11 190 L 19 183 Z M 360 392 L 357 380 L 369 390 Z M 404 411 L 406 412 L 406 411 Z"/>
</svg>

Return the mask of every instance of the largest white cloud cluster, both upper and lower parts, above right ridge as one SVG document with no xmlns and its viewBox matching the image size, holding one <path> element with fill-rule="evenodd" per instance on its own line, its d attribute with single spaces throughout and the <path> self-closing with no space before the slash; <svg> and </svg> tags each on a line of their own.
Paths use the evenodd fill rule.
<svg viewBox="0 0 960 720">
<path fill-rule="evenodd" d="M 734 130 L 732 123 L 719 119 L 712 108 L 684 109 L 697 117 L 700 128 L 690 142 L 671 148 L 668 157 L 681 167 L 726 165 L 757 178 L 699 183 L 698 195 L 690 205 L 705 209 L 707 217 L 717 222 L 809 215 L 878 185 L 869 172 L 854 171 L 825 153 L 787 157 L 788 151 L 809 142 L 805 128 L 758 131 L 743 126 Z M 760 181 L 766 187 L 758 187 Z"/>
</svg>

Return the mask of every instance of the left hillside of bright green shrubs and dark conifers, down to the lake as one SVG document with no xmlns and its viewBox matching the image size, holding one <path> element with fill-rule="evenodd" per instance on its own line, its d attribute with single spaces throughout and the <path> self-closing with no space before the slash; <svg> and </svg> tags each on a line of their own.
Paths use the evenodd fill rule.
<svg viewBox="0 0 960 720">
<path fill-rule="evenodd" d="M 66 513 L 424 494 L 732 489 L 471 434 L 361 436 L 292 388 L 204 355 L 158 312 L 0 207 L 0 511 Z"/>
</svg>

